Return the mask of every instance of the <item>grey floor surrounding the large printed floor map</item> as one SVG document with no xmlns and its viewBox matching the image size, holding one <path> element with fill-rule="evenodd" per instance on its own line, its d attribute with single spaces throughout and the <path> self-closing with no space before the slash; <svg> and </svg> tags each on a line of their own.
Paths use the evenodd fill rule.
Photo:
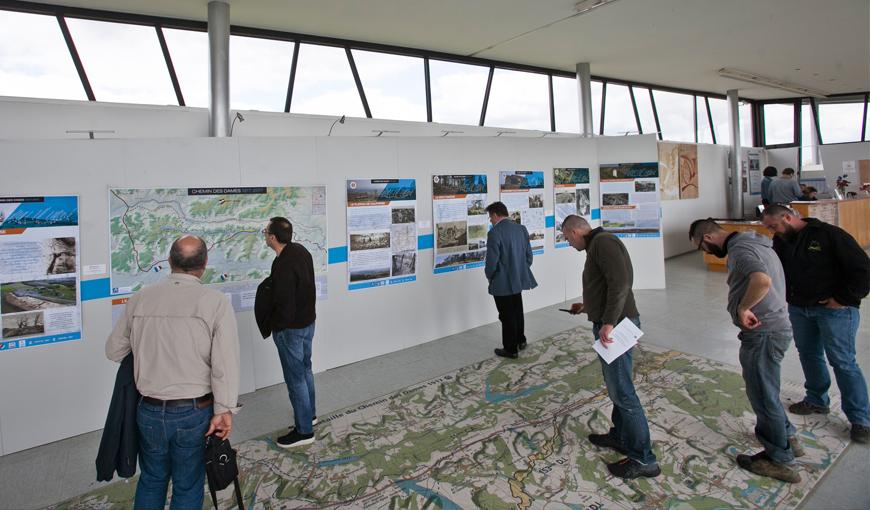
<svg viewBox="0 0 870 510">
<path fill-rule="evenodd" d="M 643 341 L 737 364 L 736 328 L 725 312 L 725 275 L 704 270 L 696 253 L 666 264 L 668 289 L 638 291 L 636 297 L 645 336 Z M 578 268 L 579 271 L 579 268 Z M 870 313 L 870 300 L 863 310 Z M 581 324 L 558 308 L 526 315 L 529 341 Z M 870 326 L 858 332 L 858 361 L 870 376 Z M 349 406 L 410 386 L 492 356 L 500 344 L 497 323 L 488 324 L 417 347 L 339 367 L 316 375 L 318 412 Z M 783 363 L 783 377 L 801 382 L 797 352 L 791 348 Z M 269 433 L 290 422 L 283 385 L 244 395 L 244 412 L 236 420 L 233 440 Z M 279 410 L 279 411 L 276 411 Z M 0 508 L 39 508 L 87 492 L 97 486 L 94 458 L 99 432 L 0 457 Z M 870 447 L 851 445 L 814 492 L 807 509 L 870 508 Z"/>
</svg>

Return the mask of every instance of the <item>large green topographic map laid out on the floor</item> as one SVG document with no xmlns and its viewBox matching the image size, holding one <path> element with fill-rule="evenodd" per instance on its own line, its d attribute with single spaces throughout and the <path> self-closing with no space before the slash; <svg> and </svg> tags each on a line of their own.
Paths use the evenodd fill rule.
<svg viewBox="0 0 870 510">
<path fill-rule="evenodd" d="M 242 442 L 246 507 L 793 508 L 846 446 L 840 415 L 792 416 L 806 449 L 803 481 L 743 471 L 735 455 L 759 445 L 740 374 L 643 346 L 636 383 L 662 476 L 614 478 L 604 464 L 620 455 L 585 439 L 606 431 L 610 414 L 591 343 L 587 329 L 566 331 L 518 361 L 490 359 L 324 415 L 310 447 L 282 450 L 275 434 Z M 801 395 L 784 385 L 784 399 Z M 112 484 L 62 507 L 126 507 L 134 487 Z M 231 496 L 222 495 L 221 508 L 232 507 Z"/>
</svg>

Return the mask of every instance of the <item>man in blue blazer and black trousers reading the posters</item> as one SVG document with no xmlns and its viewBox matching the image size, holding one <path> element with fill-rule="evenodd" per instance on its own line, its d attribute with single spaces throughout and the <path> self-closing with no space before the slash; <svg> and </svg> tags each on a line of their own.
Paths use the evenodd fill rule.
<svg viewBox="0 0 870 510">
<path fill-rule="evenodd" d="M 495 353 L 516 359 L 526 348 L 522 291 L 538 286 L 532 274 L 532 245 L 526 227 L 508 218 L 507 207 L 493 202 L 486 208 L 492 229 L 486 236 L 486 279 L 501 321 L 502 348 Z"/>
</svg>

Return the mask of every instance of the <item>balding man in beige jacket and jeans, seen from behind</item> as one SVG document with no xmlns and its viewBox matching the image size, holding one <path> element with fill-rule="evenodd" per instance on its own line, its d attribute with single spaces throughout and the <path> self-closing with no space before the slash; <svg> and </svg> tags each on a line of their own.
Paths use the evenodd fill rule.
<svg viewBox="0 0 870 510">
<path fill-rule="evenodd" d="M 208 249 L 172 243 L 172 274 L 134 294 L 106 342 L 106 357 L 133 353 L 139 467 L 134 508 L 202 508 L 205 436 L 226 438 L 238 411 L 239 338 L 233 307 L 202 285 Z"/>
</svg>

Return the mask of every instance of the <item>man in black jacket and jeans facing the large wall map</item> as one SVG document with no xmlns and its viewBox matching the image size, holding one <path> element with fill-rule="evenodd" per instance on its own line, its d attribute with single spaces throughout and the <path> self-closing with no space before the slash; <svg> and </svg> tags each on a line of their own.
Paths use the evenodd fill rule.
<svg viewBox="0 0 870 510">
<path fill-rule="evenodd" d="M 266 244 L 277 256 L 272 262 L 269 324 L 278 348 L 284 382 L 293 406 L 294 426 L 278 438 L 278 446 L 292 448 L 314 442 L 317 412 L 311 341 L 314 338 L 316 287 L 311 254 L 293 242 L 293 225 L 275 217 L 263 229 Z"/>
</svg>

